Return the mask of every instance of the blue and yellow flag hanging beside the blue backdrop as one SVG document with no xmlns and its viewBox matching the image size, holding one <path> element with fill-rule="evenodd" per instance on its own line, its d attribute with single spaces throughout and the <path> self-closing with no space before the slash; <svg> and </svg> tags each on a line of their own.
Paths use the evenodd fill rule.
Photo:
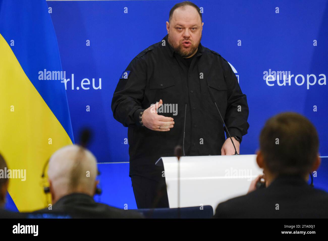
<svg viewBox="0 0 328 241">
<path fill-rule="evenodd" d="M 19 211 L 45 207 L 42 168 L 74 142 L 64 83 L 40 80 L 62 70 L 50 12 L 46 0 L 0 0 L 0 152 L 26 170 L 25 181 L 9 180 Z"/>
</svg>

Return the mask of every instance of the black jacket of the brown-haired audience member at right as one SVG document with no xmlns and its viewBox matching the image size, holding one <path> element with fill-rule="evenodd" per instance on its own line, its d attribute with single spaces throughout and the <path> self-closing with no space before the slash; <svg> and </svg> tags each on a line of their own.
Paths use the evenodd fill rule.
<svg viewBox="0 0 328 241">
<path fill-rule="evenodd" d="M 279 176 L 267 188 L 220 203 L 214 217 L 328 218 L 328 193 L 299 176 Z"/>
</svg>

